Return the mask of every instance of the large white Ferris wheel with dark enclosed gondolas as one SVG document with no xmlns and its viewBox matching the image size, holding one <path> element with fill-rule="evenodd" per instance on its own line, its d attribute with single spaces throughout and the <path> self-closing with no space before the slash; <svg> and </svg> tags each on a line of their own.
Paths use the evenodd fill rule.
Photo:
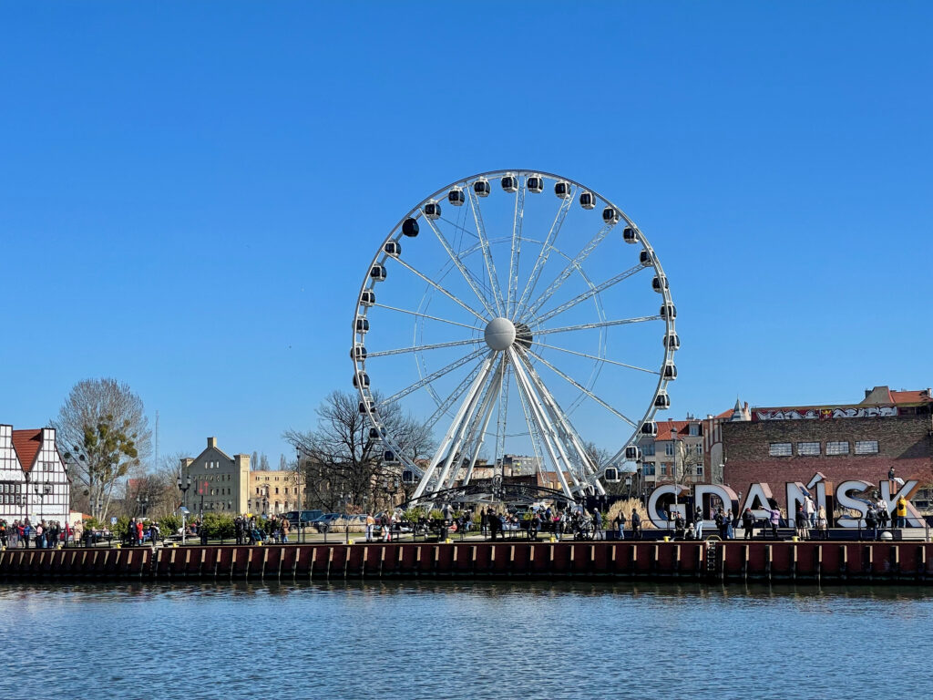
<svg viewBox="0 0 933 700">
<path fill-rule="evenodd" d="M 467 177 L 401 217 L 366 270 L 359 412 L 413 500 L 506 464 L 570 499 L 603 494 L 670 407 L 675 317 L 616 204 L 536 171 Z"/>
</svg>

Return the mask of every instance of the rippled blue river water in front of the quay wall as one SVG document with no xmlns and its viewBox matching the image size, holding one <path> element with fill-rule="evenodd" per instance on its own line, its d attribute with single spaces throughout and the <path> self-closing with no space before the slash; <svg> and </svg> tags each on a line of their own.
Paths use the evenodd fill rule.
<svg viewBox="0 0 933 700">
<path fill-rule="evenodd" d="M 933 595 L 582 582 L 0 585 L 0 698 L 923 694 Z"/>
</svg>

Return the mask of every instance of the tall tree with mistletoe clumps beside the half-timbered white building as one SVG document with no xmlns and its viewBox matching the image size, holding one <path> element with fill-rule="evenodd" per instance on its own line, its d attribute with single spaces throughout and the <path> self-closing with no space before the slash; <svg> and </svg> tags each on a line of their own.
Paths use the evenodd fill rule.
<svg viewBox="0 0 933 700">
<path fill-rule="evenodd" d="M 116 379 L 86 379 L 73 386 L 51 421 L 59 452 L 74 465 L 91 512 L 106 517 L 114 484 L 149 455 L 151 431 L 143 400 Z"/>
</svg>

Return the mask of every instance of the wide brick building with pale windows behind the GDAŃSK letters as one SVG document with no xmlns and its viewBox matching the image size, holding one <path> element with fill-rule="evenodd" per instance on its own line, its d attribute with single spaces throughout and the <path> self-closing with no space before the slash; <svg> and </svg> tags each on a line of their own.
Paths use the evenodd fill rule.
<svg viewBox="0 0 933 700">
<path fill-rule="evenodd" d="M 933 396 L 876 386 L 857 404 L 753 408 L 747 420 L 719 424 L 723 480 L 747 493 L 750 483 L 807 483 L 819 471 L 832 483 L 879 483 L 896 476 L 933 481 Z"/>
</svg>

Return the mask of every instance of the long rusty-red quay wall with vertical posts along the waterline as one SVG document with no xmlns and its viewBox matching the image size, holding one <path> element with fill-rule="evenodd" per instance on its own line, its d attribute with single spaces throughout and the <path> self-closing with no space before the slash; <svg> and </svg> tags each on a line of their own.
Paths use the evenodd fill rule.
<svg viewBox="0 0 933 700">
<path fill-rule="evenodd" d="M 387 578 L 933 582 L 921 542 L 459 542 L 6 550 L 0 580 Z"/>
</svg>

